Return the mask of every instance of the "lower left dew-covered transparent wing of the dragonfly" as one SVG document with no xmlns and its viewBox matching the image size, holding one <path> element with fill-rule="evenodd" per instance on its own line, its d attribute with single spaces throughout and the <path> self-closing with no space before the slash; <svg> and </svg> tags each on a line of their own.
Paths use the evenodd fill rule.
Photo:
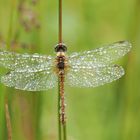
<svg viewBox="0 0 140 140">
<path fill-rule="evenodd" d="M 2 76 L 1 82 L 6 86 L 28 91 L 42 91 L 53 88 L 57 77 L 52 71 L 16 72 L 11 71 Z"/>
</svg>

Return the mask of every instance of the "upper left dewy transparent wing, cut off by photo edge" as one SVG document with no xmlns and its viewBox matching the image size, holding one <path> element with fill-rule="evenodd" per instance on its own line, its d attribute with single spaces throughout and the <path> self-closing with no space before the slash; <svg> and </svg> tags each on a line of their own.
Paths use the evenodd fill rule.
<svg viewBox="0 0 140 140">
<path fill-rule="evenodd" d="M 49 70 L 53 64 L 51 56 L 39 54 L 18 54 L 0 51 L 0 65 L 17 72 L 37 72 Z"/>
</svg>

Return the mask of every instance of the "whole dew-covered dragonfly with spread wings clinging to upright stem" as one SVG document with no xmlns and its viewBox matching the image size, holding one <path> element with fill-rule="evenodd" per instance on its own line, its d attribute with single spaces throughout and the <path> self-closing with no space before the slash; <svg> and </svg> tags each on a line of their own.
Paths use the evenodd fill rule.
<svg viewBox="0 0 140 140">
<path fill-rule="evenodd" d="M 0 50 L 0 65 L 9 72 L 1 82 L 15 89 L 43 91 L 57 86 L 61 95 L 61 119 L 65 122 L 64 83 L 73 87 L 97 87 L 124 75 L 122 66 L 114 64 L 131 49 L 128 41 L 67 55 L 67 47 L 59 43 L 56 56 L 19 54 Z"/>
</svg>

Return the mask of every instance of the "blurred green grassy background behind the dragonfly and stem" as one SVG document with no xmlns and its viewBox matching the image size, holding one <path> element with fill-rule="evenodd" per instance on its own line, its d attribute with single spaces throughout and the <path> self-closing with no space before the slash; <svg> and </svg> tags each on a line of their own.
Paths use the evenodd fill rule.
<svg viewBox="0 0 140 140">
<path fill-rule="evenodd" d="M 55 55 L 57 19 L 57 0 L 0 0 L 0 45 Z M 66 86 L 68 140 L 140 140 L 140 1 L 63 0 L 63 40 L 69 53 L 119 40 L 133 44 L 117 62 L 126 71 L 118 81 L 90 89 Z M 0 140 L 8 139 L 6 102 L 13 140 L 58 139 L 57 88 L 24 92 L 0 84 Z"/>
</svg>

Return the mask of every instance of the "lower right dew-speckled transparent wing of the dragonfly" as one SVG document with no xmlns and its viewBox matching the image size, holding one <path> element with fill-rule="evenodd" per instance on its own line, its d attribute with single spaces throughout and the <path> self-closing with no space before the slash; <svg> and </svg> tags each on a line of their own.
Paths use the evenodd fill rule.
<svg viewBox="0 0 140 140">
<path fill-rule="evenodd" d="M 73 67 L 66 75 L 66 82 L 75 87 L 96 87 L 110 83 L 124 75 L 121 66 Z"/>
</svg>

